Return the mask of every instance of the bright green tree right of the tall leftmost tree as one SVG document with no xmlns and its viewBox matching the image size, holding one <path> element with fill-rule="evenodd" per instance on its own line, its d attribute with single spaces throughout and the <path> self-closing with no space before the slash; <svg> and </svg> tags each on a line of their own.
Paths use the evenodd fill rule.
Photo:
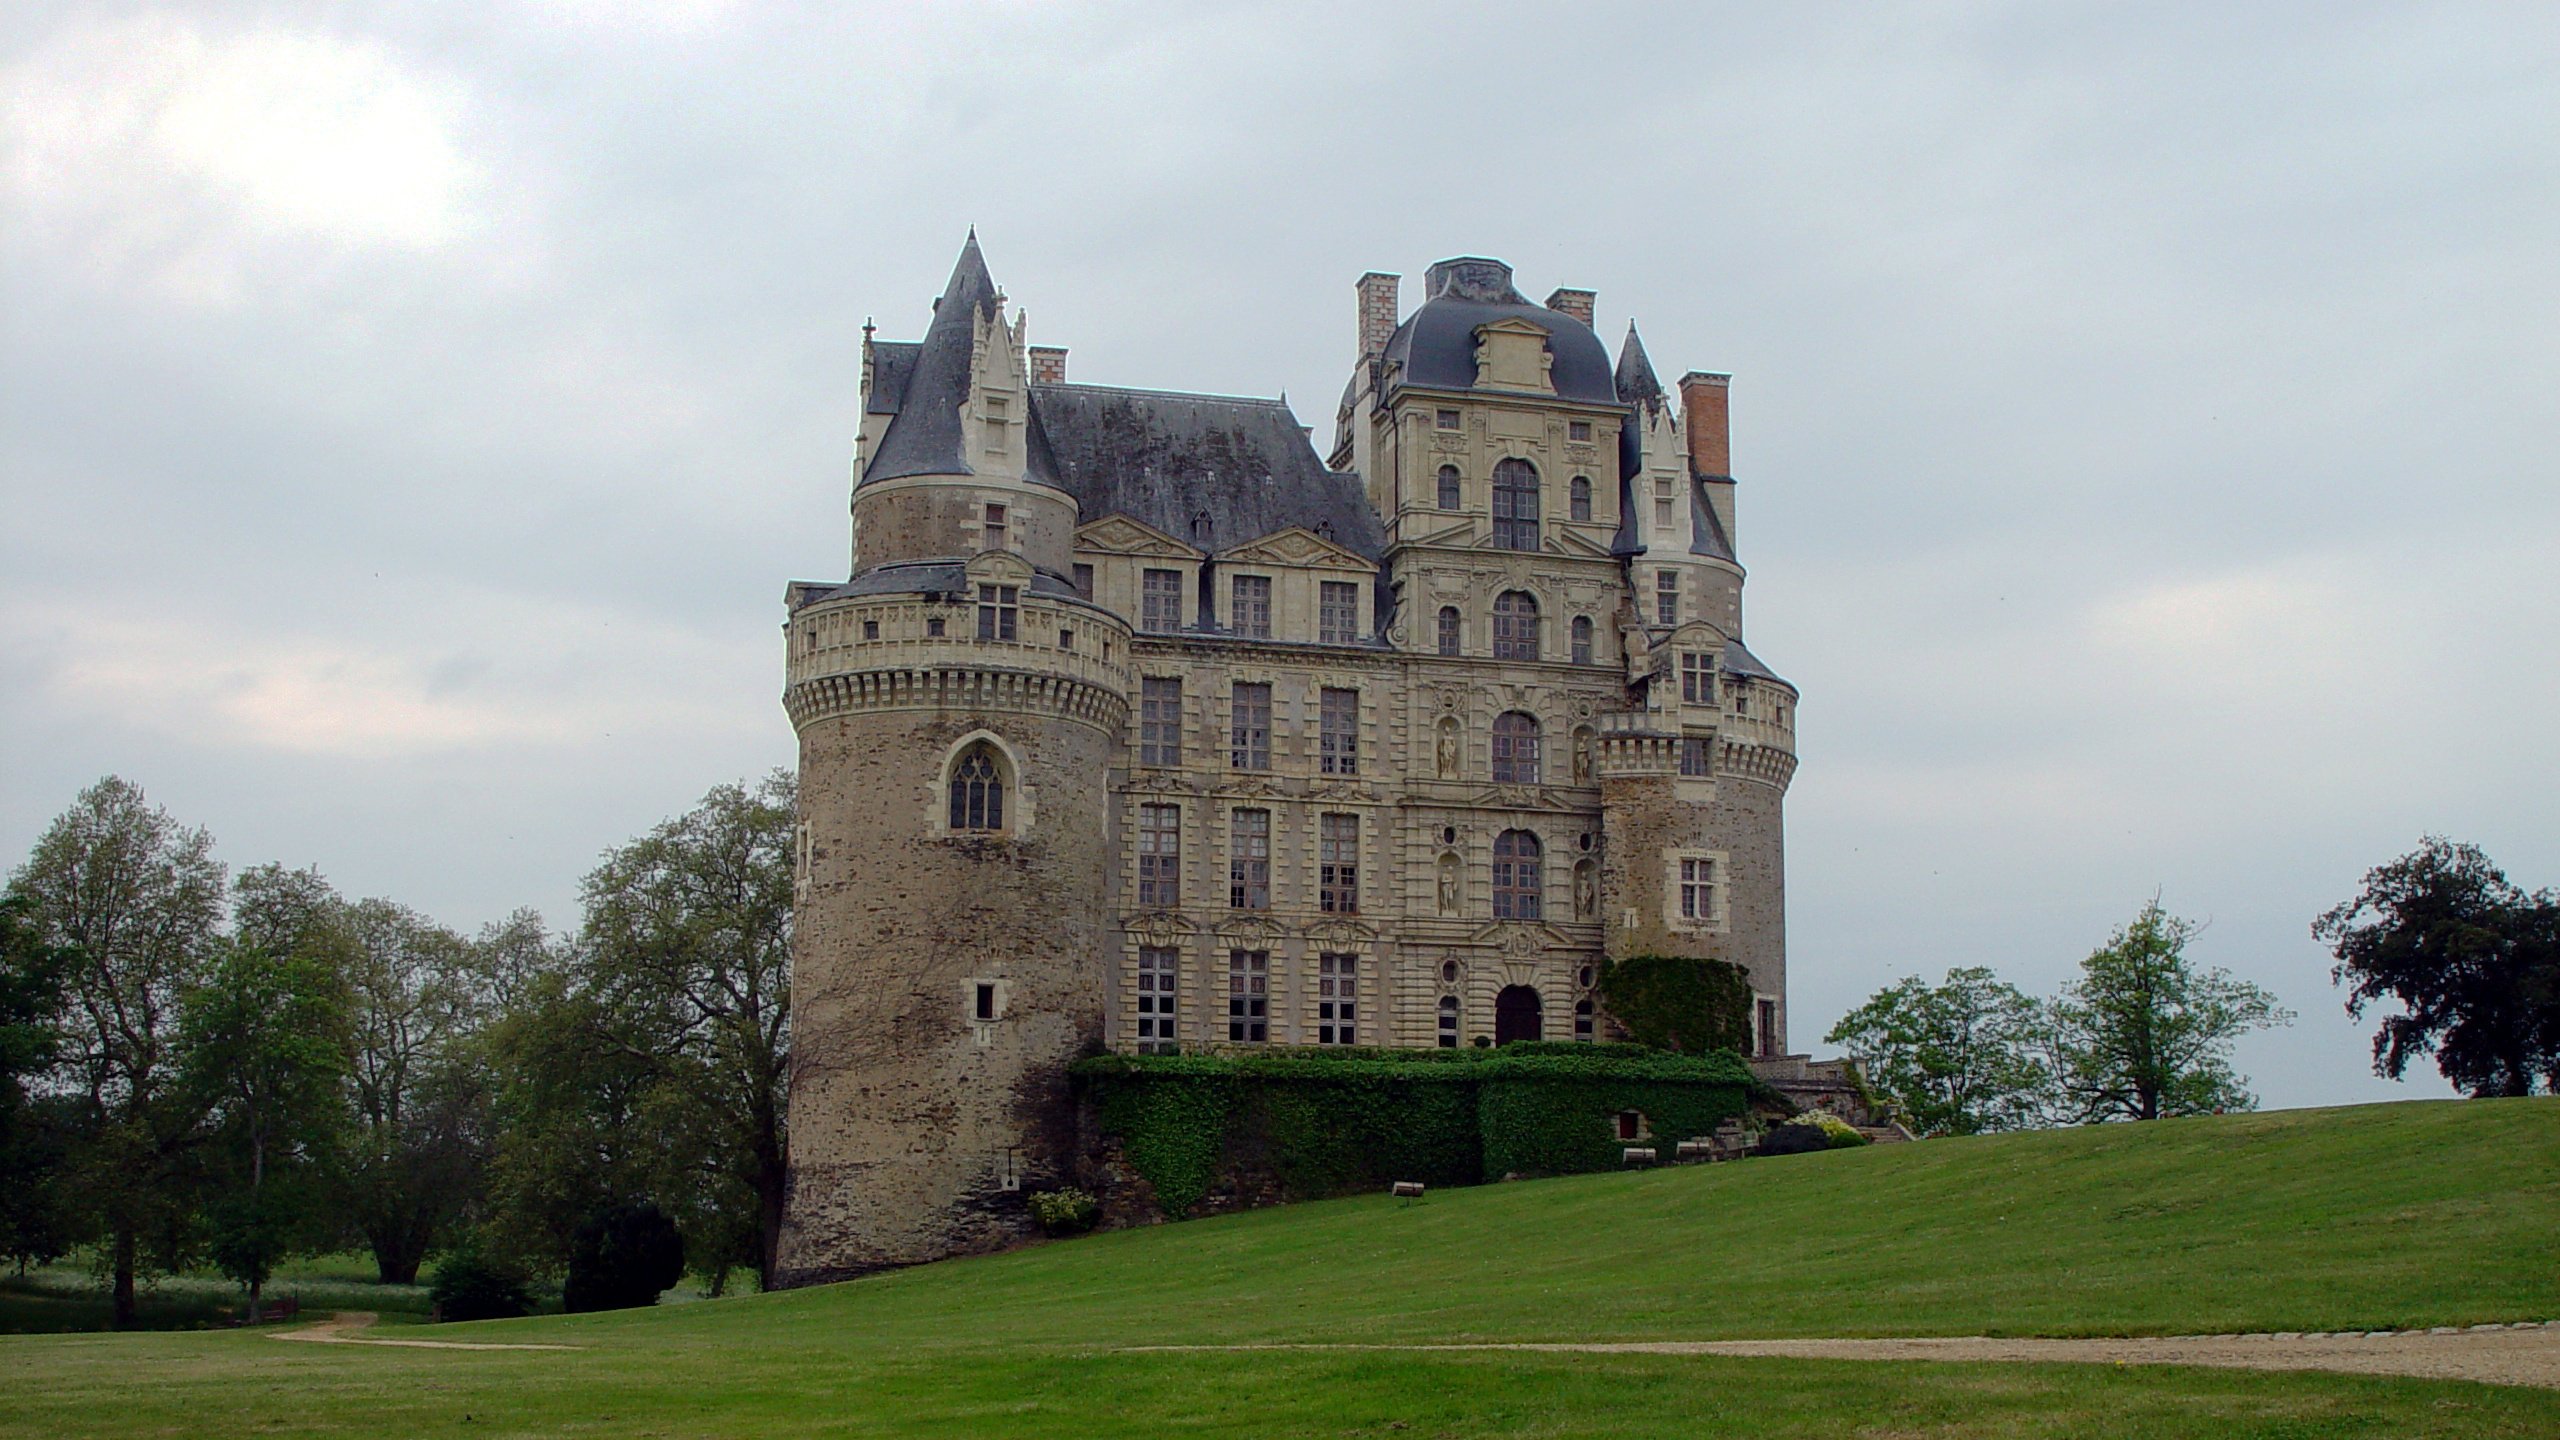
<svg viewBox="0 0 2560 1440">
<path fill-rule="evenodd" d="M 346 1120 L 346 951 L 317 912 L 282 953 L 220 943 L 184 999 L 187 1084 L 212 1122 L 212 1258 L 248 1289 L 251 1325 L 276 1263 L 320 1230 L 317 1176 Z"/>
</svg>

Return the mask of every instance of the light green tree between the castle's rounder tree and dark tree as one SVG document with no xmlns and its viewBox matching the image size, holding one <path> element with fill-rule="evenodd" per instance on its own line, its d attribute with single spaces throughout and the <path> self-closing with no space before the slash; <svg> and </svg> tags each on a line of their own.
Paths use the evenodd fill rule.
<svg viewBox="0 0 2560 1440">
<path fill-rule="evenodd" d="M 2230 1066 L 2232 1040 L 2294 1015 L 2230 971 L 2189 963 L 2196 930 L 2153 899 L 2053 1002 L 2053 1068 L 2076 1120 L 2255 1109 Z"/>
</svg>

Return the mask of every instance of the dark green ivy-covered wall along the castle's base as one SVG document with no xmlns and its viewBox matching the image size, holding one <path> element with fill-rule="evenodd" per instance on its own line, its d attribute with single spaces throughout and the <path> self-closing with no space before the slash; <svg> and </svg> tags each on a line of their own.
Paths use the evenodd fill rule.
<svg viewBox="0 0 2560 1440">
<path fill-rule="evenodd" d="M 1664 1158 L 1751 1102 L 1731 1053 L 1516 1043 L 1498 1051 L 1093 1056 L 1075 1081 L 1167 1217 L 1224 1184 L 1285 1199 L 1613 1171 L 1618 1115 Z"/>
</svg>

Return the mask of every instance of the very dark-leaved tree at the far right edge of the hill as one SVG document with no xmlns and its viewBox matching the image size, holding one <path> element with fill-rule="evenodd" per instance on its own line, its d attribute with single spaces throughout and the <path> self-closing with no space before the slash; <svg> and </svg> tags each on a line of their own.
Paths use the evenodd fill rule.
<svg viewBox="0 0 2560 1440">
<path fill-rule="evenodd" d="M 2373 1033 L 2373 1074 L 2432 1053 L 2473 1097 L 2560 1089 L 2560 894 L 2524 894 L 2478 848 L 2427 835 L 2312 935 L 2337 956 L 2348 1015 L 2404 1010 Z"/>
</svg>

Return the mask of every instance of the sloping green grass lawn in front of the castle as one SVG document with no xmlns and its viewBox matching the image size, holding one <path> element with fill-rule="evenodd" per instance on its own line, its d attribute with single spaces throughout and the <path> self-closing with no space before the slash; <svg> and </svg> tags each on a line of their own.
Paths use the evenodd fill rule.
<svg viewBox="0 0 2560 1440">
<path fill-rule="evenodd" d="M 448 1327 L 581 1353 L 15 1338 L 0 1432 L 2555 1435 L 2560 1394 L 2309 1373 L 1129 1350 L 2545 1317 L 2560 1099 L 2435 1102 L 1364 1197 Z"/>
</svg>

